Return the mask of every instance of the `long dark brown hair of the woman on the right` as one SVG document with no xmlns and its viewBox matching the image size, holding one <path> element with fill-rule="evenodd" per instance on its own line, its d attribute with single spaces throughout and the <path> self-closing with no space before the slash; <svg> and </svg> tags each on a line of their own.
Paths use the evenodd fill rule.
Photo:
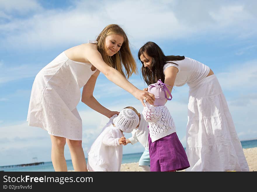
<svg viewBox="0 0 257 192">
<path fill-rule="evenodd" d="M 147 53 L 148 56 L 152 57 L 152 63 L 150 65 L 150 68 L 144 67 L 144 63 L 140 60 L 140 56 L 144 53 Z M 161 79 L 162 82 L 164 82 L 165 77 L 163 74 L 163 66 L 166 63 L 173 63 L 171 61 L 175 60 L 183 60 L 185 59 L 184 56 L 165 56 L 162 49 L 154 42 L 148 41 L 146 44 L 144 44 L 138 51 L 138 59 L 142 63 L 141 72 L 142 76 L 147 83 L 147 85 L 156 83 L 158 79 Z M 178 65 L 177 63 L 174 63 Z"/>
</svg>

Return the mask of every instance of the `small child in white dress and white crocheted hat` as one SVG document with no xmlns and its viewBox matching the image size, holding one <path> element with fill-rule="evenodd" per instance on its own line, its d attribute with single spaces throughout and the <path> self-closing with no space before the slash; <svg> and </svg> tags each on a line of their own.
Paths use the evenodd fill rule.
<svg viewBox="0 0 257 192">
<path fill-rule="evenodd" d="M 123 146 L 126 138 L 139 125 L 139 113 L 133 107 L 126 107 L 114 115 L 88 150 L 88 171 L 120 171 Z"/>
</svg>

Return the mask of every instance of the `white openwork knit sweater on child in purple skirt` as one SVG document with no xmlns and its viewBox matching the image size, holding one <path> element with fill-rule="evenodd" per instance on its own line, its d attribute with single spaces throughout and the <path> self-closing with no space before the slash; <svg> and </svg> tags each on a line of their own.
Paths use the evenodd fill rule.
<svg viewBox="0 0 257 192">
<path fill-rule="evenodd" d="M 176 132 L 171 114 L 166 106 L 154 106 L 145 102 L 144 119 L 149 122 L 149 134 L 152 142 Z"/>
</svg>

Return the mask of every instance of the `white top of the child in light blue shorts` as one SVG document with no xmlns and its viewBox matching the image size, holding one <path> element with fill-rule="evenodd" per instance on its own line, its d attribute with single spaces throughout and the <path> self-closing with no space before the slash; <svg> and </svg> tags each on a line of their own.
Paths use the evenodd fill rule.
<svg viewBox="0 0 257 192">
<path fill-rule="evenodd" d="M 148 122 L 145 121 L 143 114 L 141 114 L 140 123 L 137 129 L 133 129 L 131 132 L 132 137 L 129 138 L 129 141 L 131 144 L 135 144 L 136 142 L 140 142 L 141 145 L 145 147 L 145 149 L 149 149 L 149 143 L 148 143 Z"/>
</svg>

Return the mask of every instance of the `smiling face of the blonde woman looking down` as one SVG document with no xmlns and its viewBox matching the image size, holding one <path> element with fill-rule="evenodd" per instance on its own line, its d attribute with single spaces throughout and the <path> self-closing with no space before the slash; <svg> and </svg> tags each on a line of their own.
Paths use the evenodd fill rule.
<svg viewBox="0 0 257 192">
<path fill-rule="evenodd" d="M 117 53 L 121 45 L 123 44 L 124 38 L 118 34 L 110 34 L 105 38 L 105 50 L 108 56 L 113 56 Z"/>
</svg>

